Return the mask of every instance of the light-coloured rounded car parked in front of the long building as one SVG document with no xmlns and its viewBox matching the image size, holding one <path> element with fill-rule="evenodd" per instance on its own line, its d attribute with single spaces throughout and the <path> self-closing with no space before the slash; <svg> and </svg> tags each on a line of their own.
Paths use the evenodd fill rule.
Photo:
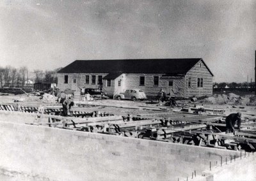
<svg viewBox="0 0 256 181">
<path fill-rule="evenodd" d="M 124 93 L 116 94 L 116 99 L 132 99 L 133 101 L 136 101 L 136 99 L 140 99 L 143 101 L 144 99 L 147 99 L 147 96 L 145 92 L 141 91 L 140 89 L 128 89 Z"/>
</svg>

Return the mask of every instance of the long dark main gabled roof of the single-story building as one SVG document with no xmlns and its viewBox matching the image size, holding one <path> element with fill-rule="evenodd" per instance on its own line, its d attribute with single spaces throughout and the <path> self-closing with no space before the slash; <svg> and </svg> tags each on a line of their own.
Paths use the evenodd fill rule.
<svg viewBox="0 0 256 181">
<path fill-rule="evenodd" d="M 164 73 L 185 75 L 198 61 L 204 62 L 200 58 L 74 61 L 58 73 Z M 210 69 L 207 69 L 211 73 Z"/>
</svg>

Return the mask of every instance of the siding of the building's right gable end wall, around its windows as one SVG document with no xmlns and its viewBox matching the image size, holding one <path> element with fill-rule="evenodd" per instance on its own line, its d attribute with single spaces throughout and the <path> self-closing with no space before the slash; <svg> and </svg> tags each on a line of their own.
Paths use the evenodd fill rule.
<svg viewBox="0 0 256 181">
<path fill-rule="evenodd" d="M 188 87 L 189 77 L 191 77 L 191 87 Z M 203 87 L 197 87 L 197 78 L 203 78 Z M 185 80 L 185 97 L 189 98 L 192 96 L 200 97 L 212 95 L 213 76 L 202 61 L 198 61 L 195 66 L 186 73 Z"/>
</svg>

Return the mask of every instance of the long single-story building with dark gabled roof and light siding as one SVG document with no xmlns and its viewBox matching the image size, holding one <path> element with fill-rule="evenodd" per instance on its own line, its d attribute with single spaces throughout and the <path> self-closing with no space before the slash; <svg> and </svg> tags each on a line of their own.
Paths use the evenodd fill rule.
<svg viewBox="0 0 256 181">
<path fill-rule="evenodd" d="M 203 59 L 122 59 L 74 61 L 58 71 L 61 90 L 102 89 L 112 96 L 141 89 L 156 96 L 163 89 L 177 97 L 212 95 L 213 74 Z"/>
</svg>

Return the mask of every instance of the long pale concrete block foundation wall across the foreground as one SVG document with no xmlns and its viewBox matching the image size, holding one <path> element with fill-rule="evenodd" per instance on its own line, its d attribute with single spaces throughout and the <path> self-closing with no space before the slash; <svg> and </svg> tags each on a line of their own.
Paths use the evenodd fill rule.
<svg viewBox="0 0 256 181">
<path fill-rule="evenodd" d="M 230 150 L 0 122 L 0 168 L 51 180 L 177 180 Z"/>
</svg>

